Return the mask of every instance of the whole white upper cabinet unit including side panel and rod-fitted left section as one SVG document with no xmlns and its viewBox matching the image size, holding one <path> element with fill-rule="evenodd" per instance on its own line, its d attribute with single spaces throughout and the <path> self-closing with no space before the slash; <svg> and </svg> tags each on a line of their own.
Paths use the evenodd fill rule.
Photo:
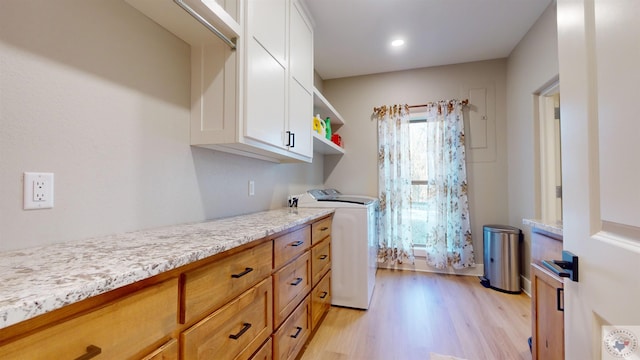
<svg viewBox="0 0 640 360">
<path fill-rule="evenodd" d="M 313 31 L 295 0 L 126 1 L 191 44 L 191 145 L 312 160 Z"/>
</svg>

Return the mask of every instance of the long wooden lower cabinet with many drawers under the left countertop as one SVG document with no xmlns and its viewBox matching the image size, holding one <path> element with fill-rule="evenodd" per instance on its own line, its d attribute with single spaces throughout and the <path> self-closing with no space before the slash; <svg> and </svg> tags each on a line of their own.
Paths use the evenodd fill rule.
<svg viewBox="0 0 640 360">
<path fill-rule="evenodd" d="M 0 329 L 0 359 L 295 359 L 330 307 L 330 230 L 328 216 Z"/>
</svg>

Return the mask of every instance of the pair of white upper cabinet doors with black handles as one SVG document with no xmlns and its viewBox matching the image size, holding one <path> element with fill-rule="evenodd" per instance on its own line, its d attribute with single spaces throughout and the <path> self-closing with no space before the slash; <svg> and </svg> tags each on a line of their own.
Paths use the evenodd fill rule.
<svg viewBox="0 0 640 360">
<path fill-rule="evenodd" d="M 286 158 L 311 161 L 313 32 L 292 0 L 247 0 L 244 135 Z M 294 70 L 304 77 L 296 84 Z"/>
</svg>

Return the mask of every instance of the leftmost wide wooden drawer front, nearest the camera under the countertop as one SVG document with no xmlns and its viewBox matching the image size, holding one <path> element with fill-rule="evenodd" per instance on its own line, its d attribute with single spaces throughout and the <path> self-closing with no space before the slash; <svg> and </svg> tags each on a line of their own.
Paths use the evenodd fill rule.
<svg viewBox="0 0 640 360">
<path fill-rule="evenodd" d="M 2 346 L 0 359 L 76 359 L 98 349 L 96 359 L 140 357 L 175 329 L 177 312 L 172 279 Z"/>
</svg>

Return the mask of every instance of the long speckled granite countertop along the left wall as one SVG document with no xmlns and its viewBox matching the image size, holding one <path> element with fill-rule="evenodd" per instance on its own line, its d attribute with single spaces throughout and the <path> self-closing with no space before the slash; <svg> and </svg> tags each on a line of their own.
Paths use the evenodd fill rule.
<svg viewBox="0 0 640 360">
<path fill-rule="evenodd" d="M 0 253 L 0 329 L 328 215 L 289 208 Z"/>
</svg>

